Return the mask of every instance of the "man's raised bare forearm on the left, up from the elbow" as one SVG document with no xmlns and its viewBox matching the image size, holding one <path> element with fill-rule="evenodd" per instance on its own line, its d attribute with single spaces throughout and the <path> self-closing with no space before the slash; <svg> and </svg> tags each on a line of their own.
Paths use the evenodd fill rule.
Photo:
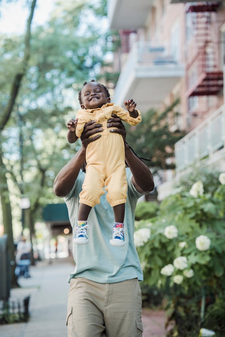
<svg viewBox="0 0 225 337">
<path fill-rule="evenodd" d="M 84 161 L 85 161 L 85 151 L 82 148 L 80 148 L 80 150 L 62 168 L 62 170 L 55 178 L 53 186 L 55 195 L 59 197 L 64 197 L 71 191 Z"/>
</svg>

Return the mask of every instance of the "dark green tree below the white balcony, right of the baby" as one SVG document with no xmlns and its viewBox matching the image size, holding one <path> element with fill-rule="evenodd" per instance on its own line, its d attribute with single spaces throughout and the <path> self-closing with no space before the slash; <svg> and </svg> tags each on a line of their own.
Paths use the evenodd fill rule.
<svg viewBox="0 0 225 337">
<path fill-rule="evenodd" d="M 165 111 L 149 110 L 142 115 L 142 122 L 136 127 L 127 127 L 126 140 L 141 157 L 151 159 L 153 173 L 175 167 L 171 158 L 174 157 L 174 144 L 184 136 L 180 130 L 170 131 L 169 118 L 178 113 L 175 107 L 179 100 L 174 101 Z"/>
</svg>

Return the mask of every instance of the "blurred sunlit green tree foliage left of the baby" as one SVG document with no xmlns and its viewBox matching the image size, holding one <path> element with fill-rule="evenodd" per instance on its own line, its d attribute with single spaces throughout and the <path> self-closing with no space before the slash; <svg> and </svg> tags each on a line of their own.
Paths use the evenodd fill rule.
<svg viewBox="0 0 225 337">
<path fill-rule="evenodd" d="M 51 20 L 32 31 L 27 71 L 1 138 L 4 172 L 10 173 L 18 196 L 31 201 L 31 233 L 41 207 L 56 200 L 52 189 L 56 174 L 76 151 L 67 144 L 65 121 L 75 115 L 77 91 L 95 77 L 110 47 L 102 22 L 105 7 L 105 0 L 58 1 Z M 2 58 L 0 67 L 13 73 L 22 37 L 6 37 L 3 46 L 0 54 L 9 53 L 10 58 Z M 8 81 L 0 78 L 0 86 L 0 103 L 9 104 Z"/>
</svg>

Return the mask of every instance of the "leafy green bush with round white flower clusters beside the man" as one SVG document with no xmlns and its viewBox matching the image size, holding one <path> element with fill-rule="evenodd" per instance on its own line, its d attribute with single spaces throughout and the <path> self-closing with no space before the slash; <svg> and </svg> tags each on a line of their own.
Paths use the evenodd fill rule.
<svg viewBox="0 0 225 337">
<path fill-rule="evenodd" d="M 151 223 L 137 223 L 135 237 L 139 237 L 136 242 L 144 282 L 150 287 L 167 288 L 168 319 L 175 319 L 173 333 L 176 330 L 179 336 L 196 333 L 187 322 L 192 302 L 198 303 L 193 321 L 200 327 L 203 290 L 206 299 L 225 294 L 225 185 L 220 184 L 218 176 L 216 186 L 213 193 L 204 194 L 195 184 L 191 193 L 186 190 L 170 195 Z M 143 242 L 141 228 L 151 230 L 150 238 L 143 238 Z M 203 306 L 202 316 L 204 310 Z"/>
</svg>

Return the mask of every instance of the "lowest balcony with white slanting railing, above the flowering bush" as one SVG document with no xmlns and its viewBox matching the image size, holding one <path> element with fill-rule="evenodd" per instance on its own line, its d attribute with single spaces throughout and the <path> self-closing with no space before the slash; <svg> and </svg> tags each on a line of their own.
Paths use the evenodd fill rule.
<svg viewBox="0 0 225 337">
<path fill-rule="evenodd" d="M 203 159 L 225 162 L 225 105 L 175 144 L 176 175 Z"/>
</svg>

